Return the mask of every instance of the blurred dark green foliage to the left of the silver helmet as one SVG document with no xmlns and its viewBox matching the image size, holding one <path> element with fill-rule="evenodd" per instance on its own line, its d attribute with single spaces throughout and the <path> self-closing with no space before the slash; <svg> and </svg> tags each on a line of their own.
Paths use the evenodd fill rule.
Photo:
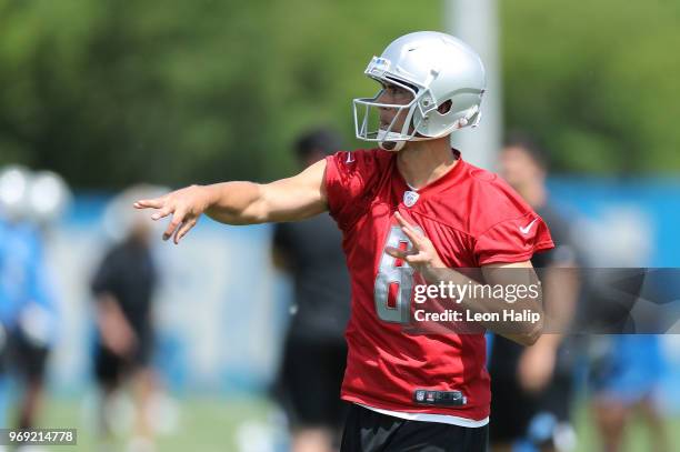
<svg viewBox="0 0 680 452">
<path fill-rule="evenodd" d="M 0 0 L 0 164 L 79 188 L 269 179 L 371 93 L 371 52 L 436 23 L 388 1 Z"/>
</svg>

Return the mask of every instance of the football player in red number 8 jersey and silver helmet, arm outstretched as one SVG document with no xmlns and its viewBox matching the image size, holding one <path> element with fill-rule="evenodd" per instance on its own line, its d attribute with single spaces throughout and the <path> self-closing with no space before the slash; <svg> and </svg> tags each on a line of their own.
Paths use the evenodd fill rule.
<svg viewBox="0 0 680 452">
<path fill-rule="evenodd" d="M 451 149 L 450 134 L 480 119 L 484 68 L 469 46 L 440 32 L 409 33 L 373 57 L 366 74 L 380 90 L 354 100 L 356 131 L 377 148 L 340 151 L 267 184 L 192 185 L 134 207 L 156 209 L 156 220 L 172 217 L 163 239 L 174 243 L 202 214 L 253 224 L 329 211 L 352 285 L 341 392 L 351 406 L 341 450 L 486 451 L 483 331 L 407 333 L 413 284 L 478 284 L 457 270 L 463 268 L 481 268 L 490 284 L 498 268 L 532 273 L 531 257 L 552 240 L 508 184 Z M 497 309 L 487 299 L 461 303 Z M 529 345 L 541 328 L 524 322 L 501 334 Z"/>
</svg>

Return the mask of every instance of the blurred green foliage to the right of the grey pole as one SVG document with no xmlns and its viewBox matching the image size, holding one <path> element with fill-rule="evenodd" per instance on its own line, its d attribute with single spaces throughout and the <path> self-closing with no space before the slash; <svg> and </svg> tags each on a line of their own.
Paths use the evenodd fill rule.
<svg viewBox="0 0 680 452">
<path fill-rule="evenodd" d="M 680 2 L 500 3 L 508 128 L 559 171 L 680 170 Z"/>
</svg>

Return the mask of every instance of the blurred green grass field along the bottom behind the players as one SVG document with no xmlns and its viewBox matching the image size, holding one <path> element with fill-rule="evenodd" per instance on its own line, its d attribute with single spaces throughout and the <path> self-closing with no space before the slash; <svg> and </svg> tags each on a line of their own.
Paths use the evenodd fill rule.
<svg viewBox="0 0 680 452">
<path fill-rule="evenodd" d="M 180 416 L 174 432 L 160 436 L 158 450 L 163 452 L 238 452 L 238 432 L 248 423 L 267 425 L 271 405 L 264 400 L 187 399 L 180 402 Z M 77 428 L 78 446 L 53 446 L 54 451 L 97 451 L 91 413 L 83 414 L 82 403 L 73 400 L 51 400 L 43 414 L 44 426 Z M 598 451 L 592 420 L 584 404 L 577 415 L 579 452 Z M 669 421 L 671 444 L 680 443 L 680 419 Z M 243 433 L 241 433 L 243 434 Z M 260 440 L 253 431 L 253 442 Z M 254 438 L 258 436 L 258 438 Z M 637 421 L 628 430 L 628 452 L 648 452 L 648 438 Z M 124 448 L 116 448 L 123 451 Z M 257 451 L 257 449 L 253 449 Z"/>
</svg>

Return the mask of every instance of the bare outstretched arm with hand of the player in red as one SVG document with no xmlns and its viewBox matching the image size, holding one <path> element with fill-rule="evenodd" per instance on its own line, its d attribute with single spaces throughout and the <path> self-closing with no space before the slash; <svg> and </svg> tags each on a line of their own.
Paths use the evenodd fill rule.
<svg viewBox="0 0 680 452">
<path fill-rule="evenodd" d="M 326 160 L 301 173 L 271 183 L 222 182 L 191 185 L 156 199 L 139 200 L 137 209 L 157 209 L 159 220 L 172 215 L 163 240 L 179 241 L 196 225 L 201 214 L 227 224 L 297 221 L 328 209 L 323 177 Z"/>
</svg>

